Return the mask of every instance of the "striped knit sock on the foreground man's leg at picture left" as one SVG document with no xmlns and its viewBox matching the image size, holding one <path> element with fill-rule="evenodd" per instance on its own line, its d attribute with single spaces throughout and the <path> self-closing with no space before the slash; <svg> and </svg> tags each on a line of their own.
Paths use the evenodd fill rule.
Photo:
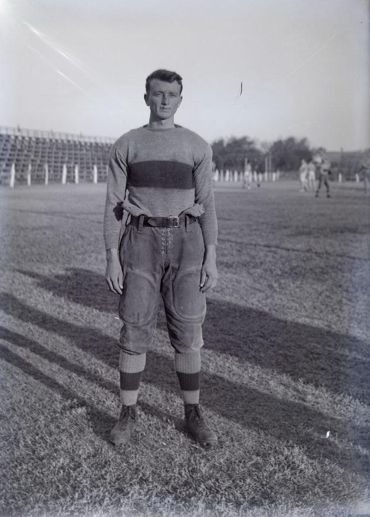
<svg viewBox="0 0 370 517">
<path fill-rule="evenodd" d="M 121 402 L 132 406 L 138 400 L 141 375 L 145 368 L 146 354 L 131 355 L 121 350 L 120 354 L 120 388 Z"/>
</svg>

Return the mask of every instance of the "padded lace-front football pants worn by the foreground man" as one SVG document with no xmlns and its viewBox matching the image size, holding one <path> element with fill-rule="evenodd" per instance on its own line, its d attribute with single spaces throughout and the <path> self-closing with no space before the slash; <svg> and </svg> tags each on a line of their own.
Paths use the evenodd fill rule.
<svg viewBox="0 0 370 517">
<path fill-rule="evenodd" d="M 161 294 L 171 345 L 177 352 L 194 352 L 203 345 L 205 295 L 200 292 L 204 257 L 198 221 L 176 228 L 128 224 L 120 245 L 123 322 L 120 346 L 128 354 L 143 354 L 151 345 Z"/>
</svg>

